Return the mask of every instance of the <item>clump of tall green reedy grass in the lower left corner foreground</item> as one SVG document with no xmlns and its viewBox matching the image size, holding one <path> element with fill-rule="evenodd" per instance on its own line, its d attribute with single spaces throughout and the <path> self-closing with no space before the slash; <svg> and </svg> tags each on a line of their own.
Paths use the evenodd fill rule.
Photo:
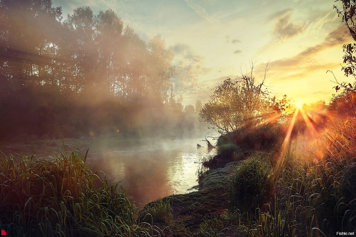
<svg viewBox="0 0 356 237">
<path fill-rule="evenodd" d="M 86 165 L 87 153 L 2 154 L 0 226 L 10 236 L 151 236 L 131 198 Z"/>
</svg>

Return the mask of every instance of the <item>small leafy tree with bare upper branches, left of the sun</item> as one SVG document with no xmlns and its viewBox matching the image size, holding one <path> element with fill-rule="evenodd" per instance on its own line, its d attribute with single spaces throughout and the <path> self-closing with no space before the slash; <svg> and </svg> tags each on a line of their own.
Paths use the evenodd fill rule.
<svg viewBox="0 0 356 237">
<path fill-rule="evenodd" d="M 250 74 L 242 74 L 235 81 L 227 78 L 215 88 L 199 113 L 200 121 L 208 122 L 210 128 L 218 129 L 220 133 L 228 133 L 243 126 L 271 123 L 282 117 L 287 99 L 284 96 L 278 100 L 268 92 L 265 86 L 268 64 L 260 83 L 255 80 L 253 66 L 251 63 Z"/>
</svg>

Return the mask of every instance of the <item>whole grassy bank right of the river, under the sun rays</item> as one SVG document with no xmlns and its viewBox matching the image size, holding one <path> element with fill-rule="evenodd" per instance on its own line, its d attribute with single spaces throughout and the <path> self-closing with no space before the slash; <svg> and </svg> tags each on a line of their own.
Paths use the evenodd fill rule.
<svg viewBox="0 0 356 237">
<path fill-rule="evenodd" d="M 331 120 L 313 138 L 295 134 L 283 151 L 270 142 L 281 147 L 283 133 L 266 142 L 268 129 L 220 139 L 220 154 L 236 161 L 200 171 L 199 191 L 167 197 L 173 221 L 161 226 L 166 236 L 329 237 L 356 230 L 355 121 Z M 237 161 L 241 153 L 248 155 Z"/>
</svg>

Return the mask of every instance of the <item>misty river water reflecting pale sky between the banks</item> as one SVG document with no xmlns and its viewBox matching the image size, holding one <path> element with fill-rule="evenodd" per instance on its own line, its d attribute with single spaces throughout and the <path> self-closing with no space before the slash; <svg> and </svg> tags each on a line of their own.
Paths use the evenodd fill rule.
<svg viewBox="0 0 356 237">
<path fill-rule="evenodd" d="M 195 172 L 200 158 L 215 150 L 197 149 L 196 140 L 166 141 L 164 144 L 135 144 L 101 150 L 88 158 L 94 170 L 101 170 L 109 184 L 121 183 L 130 189 L 137 203 L 187 193 L 197 185 Z M 195 163 L 194 163 L 195 162 Z"/>
</svg>

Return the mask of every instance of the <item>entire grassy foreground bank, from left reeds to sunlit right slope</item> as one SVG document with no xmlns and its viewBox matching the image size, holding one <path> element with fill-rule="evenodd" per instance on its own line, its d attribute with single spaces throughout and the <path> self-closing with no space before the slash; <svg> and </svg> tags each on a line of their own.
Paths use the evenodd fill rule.
<svg viewBox="0 0 356 237">
<path fill-rule="evenodd" d="M 51 160 L 3 155 L 1 228 L 11 236 L 329 237 L 355 231 L 355 120 L 333 120 L 314 137 L 296 133 L 286 146 L 285 130 L 276 126 L 221 137 L 215 158 L 229 163 L 202 166 L 198 191 L 141 210 L 119 186 L 100 180 L 77 149 Z"/>
</svg>

